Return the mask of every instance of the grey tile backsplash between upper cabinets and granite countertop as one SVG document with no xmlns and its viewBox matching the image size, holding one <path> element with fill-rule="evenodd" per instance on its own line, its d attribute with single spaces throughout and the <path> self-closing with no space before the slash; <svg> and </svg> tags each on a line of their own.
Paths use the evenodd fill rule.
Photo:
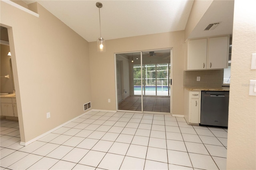
<svg viewBox="0 0 256 170">
<path fill-rule="evenodd" d="M 223 69 L 185 70 L 183 74 L 184 87 L 221 87 L 223 83 Z M 196 81 L 198 76 L 200 81 Z"/>
</svg>

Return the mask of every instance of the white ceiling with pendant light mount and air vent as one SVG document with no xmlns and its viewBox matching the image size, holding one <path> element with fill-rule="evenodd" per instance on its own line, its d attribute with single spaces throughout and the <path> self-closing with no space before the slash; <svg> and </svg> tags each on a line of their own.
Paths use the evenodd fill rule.
<svg viewBox="0 0 256 170">
<path fill-rule="evenodd" d="M 38 2 L 88 42 L 184 30 L 194 0 L 24 0 Z M 189 38 L 232 34 L 234 0 L 214 0 Z M 221 22 L 215 30 L 208 24 Z"/>
</svg>

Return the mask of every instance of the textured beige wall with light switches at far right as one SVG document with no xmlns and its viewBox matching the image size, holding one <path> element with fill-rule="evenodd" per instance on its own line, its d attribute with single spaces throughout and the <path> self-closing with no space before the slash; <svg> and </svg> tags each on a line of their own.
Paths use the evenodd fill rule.
<svg viewBox="0 0 256 170">
<path fill-rule="evenodd" d="M 256 53 L 255 1 L 235 0 L 232 65 L 228 117 L 227 169 L 256 169 L 256 96 L 249 96 L 249 82 Z"/>
</svg>

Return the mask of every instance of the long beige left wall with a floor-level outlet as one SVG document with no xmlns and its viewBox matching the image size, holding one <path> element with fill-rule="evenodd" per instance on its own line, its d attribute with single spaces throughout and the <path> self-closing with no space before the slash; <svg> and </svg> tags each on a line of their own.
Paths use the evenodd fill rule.
<svg viewBox="0 0 256 170">
<path fill-rule="evenodd" d="M 28 142 L 84 113 L 83 104 L 91 101 L 88 42 L 39 4 L 37 18 L 0 3 L 13 59 L 21 140 Z"/>
</svg>

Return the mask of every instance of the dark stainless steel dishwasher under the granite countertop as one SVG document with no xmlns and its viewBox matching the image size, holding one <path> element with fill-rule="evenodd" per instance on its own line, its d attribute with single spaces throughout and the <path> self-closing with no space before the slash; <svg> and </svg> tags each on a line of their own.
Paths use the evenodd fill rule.
<svg viewBox="0 0 256 170">
<path fill-rule="evenodd" d="M 200 125 L 228 127 L 229 91 L 202 91 Z"/>
</svg>

